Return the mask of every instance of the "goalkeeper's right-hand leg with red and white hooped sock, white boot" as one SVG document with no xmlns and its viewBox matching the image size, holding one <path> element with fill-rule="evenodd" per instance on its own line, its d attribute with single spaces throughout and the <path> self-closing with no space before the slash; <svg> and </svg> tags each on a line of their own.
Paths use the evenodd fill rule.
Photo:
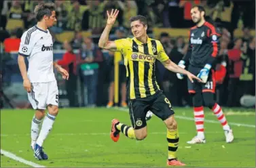
<svg viewBox="0 0 256 168">
<path fill-rule="evenodd" d="M 211 110 L 213 110 L 215 116 L 221 123 L 224 133 L 225 139 L 227 143 L 230 143 L 234 140 L 233 131 L 230 128 L 230 125 L 227 123 L 227 119 L 225 118 L 225 114 L 223 113 L 221 106 L 215 102 L 214 93 L 211 92 L 203 92 L 202 93 L 204 99 L 204 105 L 208 106 Z"/>
</svg>

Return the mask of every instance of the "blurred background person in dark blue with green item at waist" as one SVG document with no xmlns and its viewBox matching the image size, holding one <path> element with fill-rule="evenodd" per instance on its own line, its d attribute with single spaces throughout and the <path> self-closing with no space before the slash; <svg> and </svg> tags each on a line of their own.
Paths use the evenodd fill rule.
<svg viewBox="0 0 256 168">
<path fill-rule="evenodd" d="M 103 53 L 92 42 L 91 37 L 85 37 L 79 49 L 80 77 L 84 81 L 84 104 L 96 106 L 96 91 L 98 84 L 98 62 L 103 62 Z"/>
</svg>

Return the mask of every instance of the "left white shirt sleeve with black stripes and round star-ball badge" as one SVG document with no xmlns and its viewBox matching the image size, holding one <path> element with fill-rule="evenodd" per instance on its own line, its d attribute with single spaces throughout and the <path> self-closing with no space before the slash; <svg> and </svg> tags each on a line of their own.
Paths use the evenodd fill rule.
<svg viewBox="0 0 256 168">
<path fill-rule="evenodd" d="M 18 50 L 18 54 L 21 56 L 28 57 L 31 54 L 31 51 L 35 45 L 31 33 L 28 31 L 24 32 L 21 41 L 20 41 L 20 48 Z"/>
</svg>

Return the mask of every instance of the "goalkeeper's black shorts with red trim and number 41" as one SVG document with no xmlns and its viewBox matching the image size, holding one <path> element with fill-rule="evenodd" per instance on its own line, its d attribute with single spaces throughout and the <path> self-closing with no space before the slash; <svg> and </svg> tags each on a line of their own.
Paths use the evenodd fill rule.
<svg viewBox="0 0 256 168">
<path fill-rule="evenodd" d="M 194 75 L 198 75 L 202 68 L 197 68 L 194 66 L 189 66 L 188 71 Z M 206 83 L 199 83 L 198 81 L 194 80 L 194 83 L 191 83 L 189 79 L 187 79 L 187 87 L 189 93 L 196 93 L 196 92 L 211 92 L 215 93 L 216 81 L 215 81 L 215 70 L 211 70 L 209 72 L 209 76 Z"/>
</svg>

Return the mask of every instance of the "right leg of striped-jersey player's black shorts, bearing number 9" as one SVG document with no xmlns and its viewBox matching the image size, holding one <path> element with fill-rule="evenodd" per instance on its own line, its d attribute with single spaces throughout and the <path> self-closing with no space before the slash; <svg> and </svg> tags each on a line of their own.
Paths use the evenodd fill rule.
<svg viewBox="0 0 256 168">
<path fill-rule="evenodd" d="M 162 92 L 157 93 L 155 100 L 150 106 L 150 110 L 153 112 L 153 114 L 162 119 L 162 121 L 175 114 L 175 112 L 172 110 L 170 101 Z"/>
</svg>

